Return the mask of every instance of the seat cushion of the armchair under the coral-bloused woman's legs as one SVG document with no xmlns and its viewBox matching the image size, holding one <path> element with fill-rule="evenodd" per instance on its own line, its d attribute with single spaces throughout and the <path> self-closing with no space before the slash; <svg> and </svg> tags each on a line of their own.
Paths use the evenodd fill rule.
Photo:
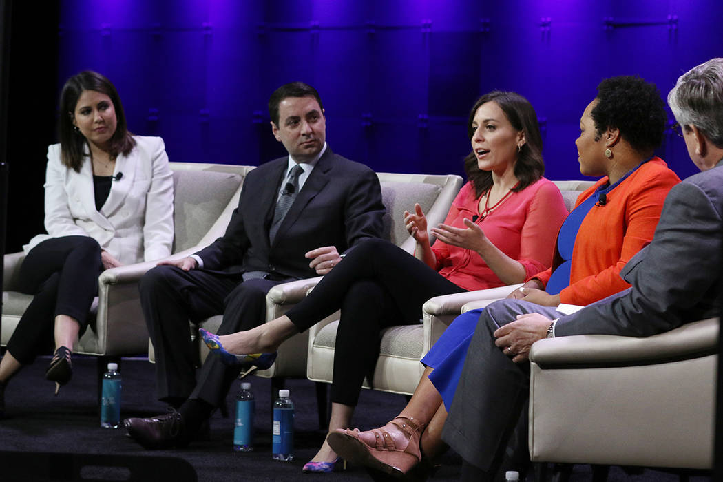
<svg viewBox="0 0 723 482">
<path fill-rule="evenodd" d="M 323 327 L 314 340 L 314 346 L 333 349 L 336 345 L 336 329 L 339 322 L 331 322 Z M 424 345 L 424 326 L 422 324 L 407 324 L 389 327 L 382 330 L 380 343 L 380 356 L 395 356 L 397 358 L 422 358 Z"/>
</svg>

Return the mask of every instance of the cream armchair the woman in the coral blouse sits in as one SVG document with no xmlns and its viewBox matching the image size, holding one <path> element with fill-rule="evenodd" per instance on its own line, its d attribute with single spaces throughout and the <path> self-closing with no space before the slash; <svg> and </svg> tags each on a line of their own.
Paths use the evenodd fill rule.
<svg viewBox="0 0 723 482">
<path fill-rule="evenodd" d="M 557 181 L 555 184 L 560 188 L 565 205 L 570 210 L 581 191 L 594 183 Z M 449 324 L 464 311 L 481 308 L 492 301 L 505 298 L 519 286 L 521 285 L 509 285 L 429 299 L 422 306 L 422 323 L 389 327 L 382 331 L 377 365 L 372 380 L 365 380 L 364 387 L 411 395 L 424 371 L 424 366 L 419 361 Z M 333 319 L 335 322 L 331 324 L 328 324 L 328 321 L 322 322 L 309 330 L 307 377 L 315 382 L 332 381 L 338 316 Z"/>
</svg>

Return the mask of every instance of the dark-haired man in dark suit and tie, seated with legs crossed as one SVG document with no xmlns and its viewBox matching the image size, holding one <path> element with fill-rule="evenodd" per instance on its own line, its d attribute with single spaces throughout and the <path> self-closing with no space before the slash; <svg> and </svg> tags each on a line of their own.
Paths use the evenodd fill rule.
<svg viewBox="0 0 723 482">
<path fill-rule="evenodd" d="M 217 356 L 203 363 L 189 319 L 223 313 L 219 334 L 265 320 L 274 285 L 325 275 L 345 251 L 382 232 L 385 209 L 377 175 L 326 145 L 318 92 L 302 82 L 275 90 L 271 127 L 288 157 L 249 172 L 226 233 L 190 257 L 159 263 L 140 281 L 156 357 L 158 399 L 178 411 L 129 418 L 128 433 L 147 448 L 183 446 L 196 438 L 238 376 Z"/>
</svg>

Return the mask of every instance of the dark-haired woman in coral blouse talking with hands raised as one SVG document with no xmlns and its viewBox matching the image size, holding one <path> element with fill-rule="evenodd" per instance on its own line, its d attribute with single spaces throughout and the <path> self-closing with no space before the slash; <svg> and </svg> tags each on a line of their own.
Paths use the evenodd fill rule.
<svg viewBox="0 0 723 482">
<path fill-rule="evenodd" d="M 468 128 L 469 182 L 445 223 L 428 231 L 419 205 L 414 214 L 405 213 L 423 263 L 388 241 L 364 241 L 286 316 L 233 335 L 204 332 L 210 348 L 231 362 L 236 357 L 228 352 L 273 352 L 341 309 L 331 388 L 333 431 L 351 421 L 364 376 L 376 363 L 382 328 L 418 323 L 422 304 L 433 296 L 521 283 L 547 269 L 567 210 L 557 186 L 542 178 L 534 109 L 513 92 L 490 92 L 472 108 Z M 429 233 L 437 237 L 433 248 Z M 304 471 L 330 472 L 337 460 L 325 442 Z"/>
</svg>

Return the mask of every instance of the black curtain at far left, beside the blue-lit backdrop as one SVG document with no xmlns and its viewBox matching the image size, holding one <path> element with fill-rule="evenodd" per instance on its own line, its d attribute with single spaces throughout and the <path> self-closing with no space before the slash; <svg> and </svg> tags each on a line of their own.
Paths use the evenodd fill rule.
<svg viewBox="0 0 723 482">
<path fill-rule="evenodd" d="M 4 253 L 20 251 L 43 228 L 46 152 L 56 141 L 59 95 L 58 43 L 61 2 L 0 0 L 3 85 L 7 116 L 0 111 L 0 155 L 6 163 L 7 241 Z M 9 20 L 9 21 L 8 21 Z M 6 45 L 9 43 L 9 48 Z M 7 119 L 7 120 L 6 120 Z"/>
</svg>

